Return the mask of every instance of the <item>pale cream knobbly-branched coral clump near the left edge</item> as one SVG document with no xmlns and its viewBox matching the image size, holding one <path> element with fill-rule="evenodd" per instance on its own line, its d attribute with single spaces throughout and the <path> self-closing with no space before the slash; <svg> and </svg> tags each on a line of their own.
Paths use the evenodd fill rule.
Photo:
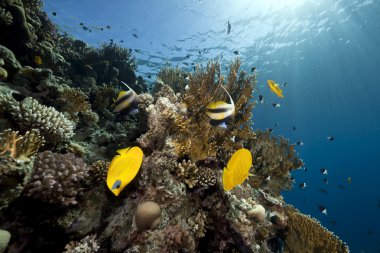
<svg viewBox="0 0 380 253">
<path fill-rule="evenodd" d="M 38 129 L 47 142 L 68 141 L 74 135 L 74 123 L 53 107 L 38 103 L 33 98 L 17 102 L 8 97 L 6 107 L 21 129 Z"/>
</svg>

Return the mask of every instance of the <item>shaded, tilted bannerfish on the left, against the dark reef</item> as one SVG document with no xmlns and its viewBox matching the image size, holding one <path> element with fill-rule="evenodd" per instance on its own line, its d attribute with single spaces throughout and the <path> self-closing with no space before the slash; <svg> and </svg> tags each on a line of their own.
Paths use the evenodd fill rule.
<svg viewBox="0 0 380 253">
<path fill-rule="evenodd" d="M 127 112 L 129 114 L 137 113 L 138 99 L 136 92 L 125 82 L 121 81 L 121 83 L 127 86 L 129 90 L 122 90 L 119 92 L 119 95 L 114 99 L 114 103 L 112 104 L 113 112 Z"/>
</svg>

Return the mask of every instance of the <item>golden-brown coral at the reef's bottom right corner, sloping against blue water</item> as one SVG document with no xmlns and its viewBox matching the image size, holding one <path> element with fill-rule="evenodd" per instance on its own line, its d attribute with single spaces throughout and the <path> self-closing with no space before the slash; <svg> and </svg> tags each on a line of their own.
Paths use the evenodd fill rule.
<svg viewBox="0 0 380 253">
<path fill-rule="evenodd" d="M 289 218 L 285 241 L 287 252 L 349 252 L 348 246 L 316 219 L 289 205 L 285 212 Z"/>
</svg>

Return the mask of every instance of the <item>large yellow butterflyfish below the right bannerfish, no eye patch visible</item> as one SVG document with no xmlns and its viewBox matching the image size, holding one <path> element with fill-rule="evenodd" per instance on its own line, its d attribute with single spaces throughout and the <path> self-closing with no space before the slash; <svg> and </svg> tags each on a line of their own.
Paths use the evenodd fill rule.
<svg viewBox="0 0 380 253">
<path fill-rule="evenodd" d="M 247 179 L 252 166 L 252 154 L 248 149 L 236 151 L 223 170 L 223 189 L 229 191 Z"/>
</svg>

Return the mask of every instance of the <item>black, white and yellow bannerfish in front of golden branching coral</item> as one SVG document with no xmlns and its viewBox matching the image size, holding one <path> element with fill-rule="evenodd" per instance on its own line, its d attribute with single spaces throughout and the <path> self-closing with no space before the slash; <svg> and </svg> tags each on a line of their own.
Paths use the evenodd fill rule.
<svg viewBox="0 0 380 253">
<path fill-rule="evenodd" d="M 224 101 L 210 102 L 206 107 L 206 114 L 211 119 L 210 124 L 212 126 L 227 128 L 227 122 L 235 114 L 235 104 L 226 88 L 223 85 L 221 87 L 230 98 L 230 104 Z"/>
</svg>

